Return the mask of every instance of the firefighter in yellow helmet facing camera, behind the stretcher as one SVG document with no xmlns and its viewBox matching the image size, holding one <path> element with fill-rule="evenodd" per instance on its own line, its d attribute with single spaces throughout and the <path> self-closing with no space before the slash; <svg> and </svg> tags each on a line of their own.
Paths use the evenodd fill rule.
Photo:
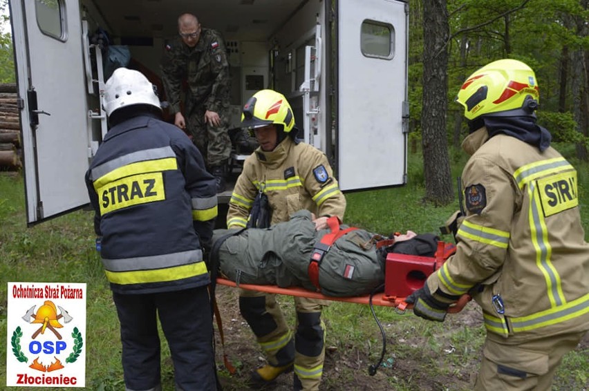
<svg viewBox="0 0 589 391">
<path fill-rule="evenodd" d="M 250 218 L 250 212 L 257 209 L 258 195 L 268 198 L 270 225 L 288 221 L 301 209 L 318 216 L 317 230 L 327 228 L 329 216 L 344 218 L 346 198 L 326 155 L 299 142 L 292 108 L 283 95 L 274 90 L 256 93 L 243 106 L 241 125 L 260 146 L 243 164 L 229 203 L 227 228 L 252 227 L 257 219 Z M 240 290 L 241 314 L 268 359 L 252 374 L 253 385 L 268 383 L 294 366 L 294 390 L 319 389 L 325 357 L 321 307 L 325 304 L 295 297 L 297 327 L 292 336 L 273 294 Z"/>
</svg>

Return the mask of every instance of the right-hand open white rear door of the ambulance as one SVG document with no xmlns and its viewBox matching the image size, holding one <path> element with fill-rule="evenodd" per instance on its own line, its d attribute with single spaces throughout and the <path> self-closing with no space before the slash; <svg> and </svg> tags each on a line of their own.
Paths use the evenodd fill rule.
<svg viewBox="0 0 589 391">
<path fill-rule="evenodd" d="M 336 6 L 339 187 L 406 184 L 408 3 L 339 0 Z"/>
</svg>

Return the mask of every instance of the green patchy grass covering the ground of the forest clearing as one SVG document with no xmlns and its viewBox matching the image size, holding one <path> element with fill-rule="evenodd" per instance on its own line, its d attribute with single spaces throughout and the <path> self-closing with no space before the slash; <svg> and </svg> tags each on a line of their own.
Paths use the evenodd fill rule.
<svg viewBox="0 0 589 391">
<path fill-rule="evenodd" d="M 579 172 L 580 209 L 583 227 L 589 231 L 589 164 L 572 158 L 574 148 L 561 148 Z M 568 154 L 568 155 L 567 155 Z M 465 157 L 456 153 L 453 175 L 460 174 Z M 409 158 L 409 184 L 395 189 L 361 191 L 346 195 L 346 222 L 378 233 L 411 229 L 438 233 L 438 227 L 458 204 L 433 207 L 424 204 L 421 156 Z M 67 281 L 87 284 L 86 388 L 122 390 L 118 319 L 109 285 L 94 250 L 92 213 L 76 211 L 34 227 L 26 227 L 24 184 L 21 175 L 0 173 L 0 334 L 6 335 L 6 282 Z M 449 237 L 442 237 L 451 241 Z M 290 298 L 280 298 L 287 316 L 293 316 Z M 386 332 L 384 365 L 373 381 L 382 390 L 468 390 L 474 381 L 485 331 L 478 307 L 465 316 L 449 315 L 445 323 L 422 321 L 412 314 L 397 314 L 375 307 Z M 382 341 L 371 310 L 366 305 L 331 302 L 322 316 L 327 326 L 326 346 L 334 350 L 333 376 L 324 376 L 323 390 L 341 390 L 357 383 L 358 374 L 380 356 Z M 291 324 L 293 319 L 289 319 Z M 227 323 L 227 319 L 224 319 Z M 225 338 L 231 338 L 225 330 Z M 247 338 L 251 339 L 251 336 Z M 162 338 L 165 341 L 165 338 Z M 6 384 L 6 345 L 0 345 L 0 388 Z M 10 351 L 8 352 L 10 354 Z M 169 352 L 164 347 L 162 381 L 171 390 L 173 373 Z M 554 380 L 554 390 L 587 390 L 589 350 L 570 352 L 563 359 Z M 233 361 L 243 367 L 236 357 Z M 337 372 L 337 373 L 336 373 Z M 221 376 L 228 377 L 227 372 Z M 424 387 L 424 379 L 430 388 Z M 243 389 L 236 379 L 235 390 Z M 167 388 L 166 388 L 167 387 Z M 353 388 L 348 388 L 352 390 Z M 381 388 L 379 388 L 381 389 Z"/>
</svg>

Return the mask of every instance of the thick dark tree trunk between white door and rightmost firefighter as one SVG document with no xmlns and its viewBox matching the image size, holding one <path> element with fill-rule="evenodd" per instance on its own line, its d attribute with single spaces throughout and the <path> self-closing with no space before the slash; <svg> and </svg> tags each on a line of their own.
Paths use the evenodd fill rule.
<svg viewBox="0 0 589 391">
<path fill-rule="evenodd" d="M 423 2 L 422 147 L 425 198 L 435 204 L 454 200 L 446 131 L 449 23 L 446 0 Z"/>
</svg>

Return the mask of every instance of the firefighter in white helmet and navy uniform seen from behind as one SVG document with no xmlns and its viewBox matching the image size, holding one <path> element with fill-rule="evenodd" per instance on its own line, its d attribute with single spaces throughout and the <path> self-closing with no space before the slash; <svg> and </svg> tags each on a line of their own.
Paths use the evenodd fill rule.
<svg viewBox="0 0 589 391">
<path fill-rule="evenodd" d="M 157 318 L 178 390 L 214 390 L 213 327 L 203 261 L 215 180 L 189 138 L 161 120 L 153 86 L 118 68 L 106 82 L 111 128 L 86 173 L 113 292 L 126 390 L 160 390 Z"/>
</svg>

